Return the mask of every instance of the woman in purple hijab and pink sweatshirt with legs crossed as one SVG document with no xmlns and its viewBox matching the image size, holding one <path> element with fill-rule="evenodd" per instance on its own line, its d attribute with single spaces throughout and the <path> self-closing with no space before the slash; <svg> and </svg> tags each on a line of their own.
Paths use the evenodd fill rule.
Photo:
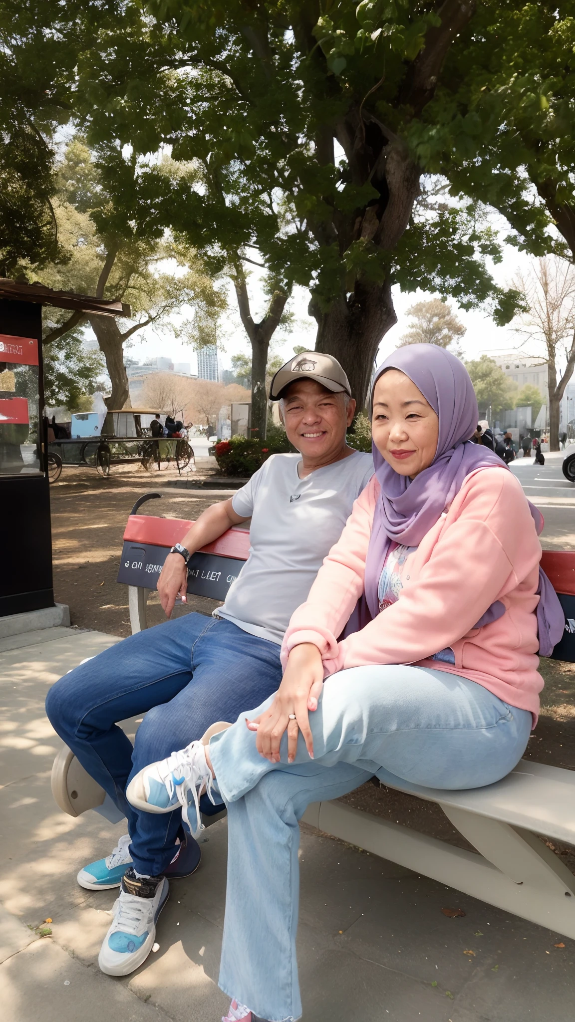
<svg viewBox="0 0 575 1022">
<path fill-rule="evenodd" d="M 215 777 L 228 807 L 225 1022 L 301 1015 L 306 806 L 373 774 L 433 788 L 504 777 L 537 717 L 537 650 L 549 652 L 563 628 L 558 604 L 543 588 L 545 617 L 537 595 L 541 550 L 520 483 L 467 443 L 478 410 L 462 364 L 434 345 L 399 349 L 377 371 L 371 401 L 375 475 L 292 617 L 278 692 L 248 729 L 240 718 L 209 747 L 146 768 L 127 791 L 161 811 L 154 789 L 177 790 L 193 823 Z M 339 640 L 350 617 L 358 631 Z"/>
</svg>

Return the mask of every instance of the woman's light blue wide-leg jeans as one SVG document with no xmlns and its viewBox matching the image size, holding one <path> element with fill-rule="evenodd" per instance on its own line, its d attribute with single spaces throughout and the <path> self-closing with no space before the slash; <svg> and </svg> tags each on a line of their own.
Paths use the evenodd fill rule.
<svg viewBox="0 0 575 1022">
<path fill-rule="evenodd" d="M 373 774 L 430 788 L 492 784 L 521 759 L 532 717 L 466 678 L 402 665 L 353 667 L 326 680 L 310 713 L 313 759 L 301 736 L 294 763 L 285 736 L 281 762 L 263 759 L 245 717 L 210 742 L 228 809 L 219 985 L 260 1017 L 284 1022 L 302 1014 L 298 821 L 306 806 L 345 795 Z"/>
</svg>

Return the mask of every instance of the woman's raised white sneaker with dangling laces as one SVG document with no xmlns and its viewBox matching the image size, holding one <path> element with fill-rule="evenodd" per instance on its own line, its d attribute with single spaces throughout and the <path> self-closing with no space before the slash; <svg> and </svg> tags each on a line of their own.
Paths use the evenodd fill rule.
<svg viewBox="0 0 575 1022">
<path fill-rule="evenodd" d="M 144 812 L 171 812 L 179 803 L 182 817 L 195 837 L 205 830 L 200 815 L 200 795 L 206 791 L 215 804 L 213 783 L 212 771 L 206 762 L 206 746 L 196 741 L 139 771 L 126 789 L 126 798 Z M 190 808 L 193 804 L 195 819 L 188 820 L 188 801 Z"/>
</svg>

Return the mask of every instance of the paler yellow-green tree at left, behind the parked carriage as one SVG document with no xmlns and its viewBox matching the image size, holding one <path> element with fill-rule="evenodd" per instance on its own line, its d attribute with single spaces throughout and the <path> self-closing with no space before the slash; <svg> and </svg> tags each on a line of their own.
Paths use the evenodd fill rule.
<svg viewBox="0 0 575 1022">
<path fill-rule="evenodd" d="M 49 349 L 70 343 L 71 332 L 80 338 L 81 328 L 89 324 L 112 381 L 107 406 L 124 408 L 130 402 L 124 359 L 129 338 L 150 326 L 177 332 L 171 317 L 184 306 L 192 306 L 202 321 L 217 320 L 225 297 L 189 245 L 169 236 L 138 238 L 133 229 L 114 229 L 109 196 L 82 139 L 75 138 L 68 145 L 57 167 L 56 185 L 52 207 L 64 258 L 43 267 L 43 282 L 122 299 L 131 306 L 132 320 L 120 325 L 110 317 L 49 309 L 44 316 L 43 344 Z M 35 270 L 32 267 L 29 272 Z M 196 341 L 202 343 L 202 338 Z"/>
</svg>

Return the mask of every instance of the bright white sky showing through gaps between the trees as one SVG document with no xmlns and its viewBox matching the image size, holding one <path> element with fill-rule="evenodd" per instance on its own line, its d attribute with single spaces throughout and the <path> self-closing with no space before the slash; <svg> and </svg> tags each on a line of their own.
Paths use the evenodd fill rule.
<svg viewBox="0 0 575 1022">
<path fill-rule="evenodd" d="M 510 286 L 512 279 L 519 268 L 527 270 L 531 260 L 517 248 L 505 245 L 503 249 L 503 261 L 497 266 L 491 265 L 490 269 L 496 282 L 501 286 Z M 247 268 L 248 269 L 248 268 Z M 252 315 L 255 320 L 262 318 L 266 299 L 261 287 L 260 271 L 252 270 L 248 287 L 250 291 Z M 417 290 L 411 293 L 402 293 L 399 287 L 395 287 L 393 298 L 398 322 L 384 337 L 379 360 L 385 358 L 394 351 L 406 329 L 409 317 L 407 310 L 415 303 L 433 297 L 432 294 Z M 281 327 L 278 328 L 272 338 L 272 354 L 280 355 L 288 361 L 294 354 L 295 344 L 303 344 L 310 350 L 315 347 L 315 320 L 311 319 L 307 313 L 309 301 L 309 291 L 306 288 L 298 287 L 295 290 L 291 301 L 291 310 L 294 313 L 294 326 L 292 332 L 286 332 Z M 495 354 L 518 349 L 522 343 L 522 337 L 510 325 L 507 327 L 497 327 L 488 313 L 477 310 L 465 312 L 460 310 L 453 299 L 449 304 L 457 313 L 459 319 L 467 328 L 467 332 L 460 339 L 460 346 L 466 359 L 478 358 L 481 354 Z M 233 293 L 229 295 L 230 313 L 223 323 L 223 342 L 220 351 L 220 361 L 222 368 L 230 368 L 230 361 L 233 355 L 250 354 L 250 342 L 244 327 L 239 322 L 235 297 Z M 189 309 L 182 310 L 182 319 L 192 315 Z M 157 356 L 170 358 L 172 362 L 188 362 L 191 372 L 196 371 L 195 353 L 190 344 L 183 343 L 181 339 L 176 339 L 170 332 L 158 332 L 152 329 L 142 331 L 141 334 L 131 338 L 132 343 L 126 351 L 126 355 L 138 361 L 145 362 Z M 536 345 L 531 344 L 530 354 L 541 354 Z"/>
</svg>

